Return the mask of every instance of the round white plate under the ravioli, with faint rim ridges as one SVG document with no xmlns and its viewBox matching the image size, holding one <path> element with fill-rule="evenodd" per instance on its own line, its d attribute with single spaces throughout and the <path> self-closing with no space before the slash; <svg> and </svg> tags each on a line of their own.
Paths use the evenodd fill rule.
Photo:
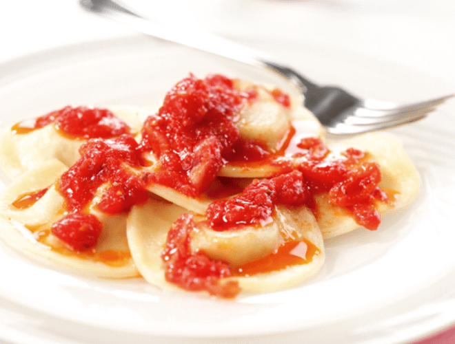
<svg viewBox="0 0 455 344">
<path fill-rule="evenodd" d="M 254 42 L 261 44 L 267 50 Z M 303 43 L 274 47 L 314 80 L 347 85 L 365 96 L 410 101 L 450 91 L 403 67 L 349 52 Z M 148 105 L 189 72 L 279 82 L 143 36 L 84 43 L 1 65 L 1 126 L 68 104 Z M 223 301 L 158 290 L 141 279 L 71 275 L 0 244 L 0 340 L 402 343 L 454 323 L 454 105 L 391 131 L 421 174 L 418 200 L 385 217 L 376 232 L 357 230 L 328 241 L 325 267 L 304 286 Z"/>
</svg>

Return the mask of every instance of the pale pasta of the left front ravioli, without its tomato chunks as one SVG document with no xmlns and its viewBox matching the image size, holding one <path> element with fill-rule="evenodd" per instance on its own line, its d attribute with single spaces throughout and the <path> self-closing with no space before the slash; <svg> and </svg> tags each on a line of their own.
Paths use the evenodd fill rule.
<svg viewBox="0 0 455 344">
<path fill-rule="evenodd" d="M 136 277 L 134 261 L 126 239 L 126 215 L 106 215 L 91 211 L 103 222 L 103 231 L 94 250 L 75 252 L 52 235 L 50 227 L 65 215 L 64 199 L 55 182 L 67 167 L 48 160 L 23 173 L 0 196 L 0 236 L 12 248 L 33 260 L 69 268 L 97 277 Z M 24 196 L 46 190 L 38 200 Z"/>
</svg>

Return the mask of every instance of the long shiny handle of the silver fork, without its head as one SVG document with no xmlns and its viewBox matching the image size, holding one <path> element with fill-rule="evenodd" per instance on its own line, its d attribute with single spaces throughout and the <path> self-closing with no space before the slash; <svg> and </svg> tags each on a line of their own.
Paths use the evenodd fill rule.
<svg viewBox="0 0 455 344">
<path fill-rule="evenodd" d="M 273 61 L 273 59 L 270 58 L 270 56 L 256 52 L 256 50 L 252 50 L 250 47 L 234 43 L 223 37 L 211 34 L 210 32 L 196 30 L 194 28 L 177 30 L 171 25 L 158 23 L 153 19 L 136 13 L 133 10 L 126 8 L 119 1 L 80 0 L 80 3 L 85 10 L 119 21 L 144 34 L 186 45 L 188 47 L 194 47 L 198 50 L 230 58 L 241 63 L 247 63 L 248 65 L 255 67 L 272 69 L 273 72 L 277 72 L 287 80 L 290 80 L 304 95 L 308 89 L 311 91 L 319 89 L 319 86 L 310 82 L 310 80 L 307 80 L 300 74 L 297 74 L 290 67 L 272 63 L 271 61 Z M 305 103 L 308 101 L 310 101 L 310 99 L 305 100 Z"/>
</svg>

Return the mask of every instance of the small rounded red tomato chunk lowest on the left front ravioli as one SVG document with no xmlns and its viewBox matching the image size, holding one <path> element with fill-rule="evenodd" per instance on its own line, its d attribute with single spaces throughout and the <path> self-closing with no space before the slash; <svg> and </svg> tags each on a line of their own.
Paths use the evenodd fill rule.
<svg viewBox="0 0 455 344">
<path fill-rule="evenodd" d="M 92 214 L 72 213 L 52 224 L 53 235 L 73 250 L 83 251 L 97 245 L 103 223 Z"/>
</svg>

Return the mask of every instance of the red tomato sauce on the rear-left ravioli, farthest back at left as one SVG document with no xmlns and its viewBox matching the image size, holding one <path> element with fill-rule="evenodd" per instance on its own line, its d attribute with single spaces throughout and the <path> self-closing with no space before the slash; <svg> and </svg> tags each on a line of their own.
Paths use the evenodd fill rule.
<svg viewBox="0 0 455 344">
<path fill-rule="evenodd" d="M 130 127 L 108 109 L 70 106 L 19 122 L 12 130 L 18 134 L 29 133 L 50 123 L 61 133 L 75 138 L 114 138 L 130 132 Z"/>
</svg>

